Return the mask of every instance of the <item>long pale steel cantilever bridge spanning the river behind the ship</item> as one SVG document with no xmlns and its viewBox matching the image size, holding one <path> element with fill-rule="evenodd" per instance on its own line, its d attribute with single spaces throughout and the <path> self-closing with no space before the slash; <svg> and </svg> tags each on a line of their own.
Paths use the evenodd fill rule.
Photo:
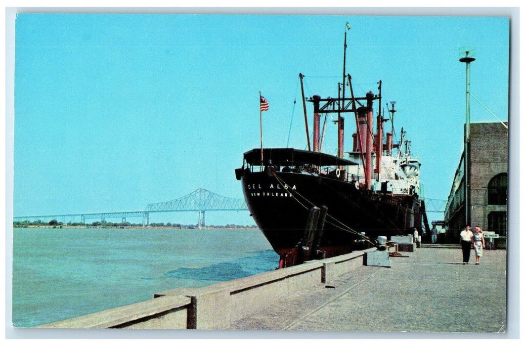
<svg viewBox="0 0 525 346">
<path fill-rule="evenodd" d="M 442 213 L 445 209 L 446 201 L 434 198 L 425 198 L 427 212 Z M 13 221 L 43 221 L 51 219 L 72 223 L 86 223 L 88 219 L 98 219 L 105 221 L 107 218 L 120 218 L 124 223 L 127 217 L 142 217 L 142 225 L 150 224 L 151 213 L 165 212 L 198 212 L 198 227 L 204 227 L 204 214 L 209 211 L 243 211 L 248 210 L 248 206 L 243 198 L 231 198 L 220 196 L 205 188 L 198 188 L 175 200 L 167 202 L 150 203 L 144 211 L 136 212 L 116 212 L 116 213 L 84 213 L 84 214 L 61 214 L 61 215 L 36 215 L 36 216 L 15 216 Z"/>
</svg>

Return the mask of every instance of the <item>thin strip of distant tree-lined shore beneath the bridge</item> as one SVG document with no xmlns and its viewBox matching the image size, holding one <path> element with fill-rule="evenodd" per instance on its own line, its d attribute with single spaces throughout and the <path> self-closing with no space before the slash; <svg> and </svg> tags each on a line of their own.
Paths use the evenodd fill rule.
<svg viewBox="0 0 525 346">
<path fill-rule="evenodd" d="M 108 221 L 95 221 L 92 223 L 83 223 L 83 222 L 69 222 L 69 223 L 63 223 L 59 222 L 56 219 L 53 219 L 49 222 L 43 222 L 41 220 L 37 221 L 13 221 L 13 227 L 17 228 L 27 228 L 29 226 L 50 226 L 50 227 L 61 227 L 61 226 L 72 226 L 72 227 L 101 227 L 101 228 L 112 228 L 112 227 L 142 227 L 142 224 L 134 224 L 130 222 L 108 222 Z M 164 228 L 198 228 L 198 225 L 184 225 L 180 223 L 155 223 L 152 222 L 148 225 L 149 227 L 164 227 Z M 235 224 L 227 224 L 227 225 L 206 225 L 207 228 L 256 228 L 255 225 L 235 225 Z"/>
</svg>

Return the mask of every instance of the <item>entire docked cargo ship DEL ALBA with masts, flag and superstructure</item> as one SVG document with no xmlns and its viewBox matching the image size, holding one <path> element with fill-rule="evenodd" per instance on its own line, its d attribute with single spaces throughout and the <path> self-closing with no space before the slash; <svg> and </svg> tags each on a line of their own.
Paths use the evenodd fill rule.
<svg viewBox="0 0 525 346">
<path fill-rule="evenodd" d="M 369 91 L 356 97 L 352 78 L 345 74 L 345 59 L 346 50 L 343 82 L 335 98 L 312 95 L 307 99 L 304 76 L 299 74 L 308 150 L 262 147 L 262 111 L 269 106 L 259 95 L 261 146 L 245 152 L 243 165 L 235 170 L 251 216 L 280 255 L 280 268 L 349 253 L 363 247 L 363 240 L 382 248 L 378 236 L 388 239 L 422 229 L 423 208 L 418 200 L 421 164 L 411 157 L 403 128 L 399 142 L 393 142 L 397 141 L 395 101 L 388 109 L 390 119 L 384 118 L 381 80 L 377 83 L 379 95 Z M 350 98 L 345 97 L 346 85 Z M 311 137 L 306 101 L 313 106 Z M 379 101 L 379 111 L 374 111 L 374 101 Z M 356 132 L 352 134 L 352 150 L 345 151 L 344 117 L 351 113 Z M 331 114 L 337 114 L 333 120 L 337 123 L 337 155 L 322 152 L 325 124 Z M 392 132 L 385 133 L 383 123 L 388 120 Z"/>
</svg>

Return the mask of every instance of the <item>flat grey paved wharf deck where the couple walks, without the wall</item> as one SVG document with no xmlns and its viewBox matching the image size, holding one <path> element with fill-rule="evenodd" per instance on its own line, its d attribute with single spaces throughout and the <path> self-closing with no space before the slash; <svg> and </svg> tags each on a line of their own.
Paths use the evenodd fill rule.
<svg viewBox="0 0 525 346">
<path fill-rule="evenodd" d="M 485 250 L 480 265 L 461 249 L 422 247 L 362 266 L 232 321 L 235 330 L 505 332 L 506 250 Z M 331 288 L 329 288 L 329 286 Z"/>
</svg>

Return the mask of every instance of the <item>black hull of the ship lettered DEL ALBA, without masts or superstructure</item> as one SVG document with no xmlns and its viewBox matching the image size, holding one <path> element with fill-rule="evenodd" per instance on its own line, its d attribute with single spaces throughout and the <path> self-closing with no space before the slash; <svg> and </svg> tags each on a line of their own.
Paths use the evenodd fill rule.
<svg viewBox="0 0 525 346">
<path fill-rule="evenodd" d="M 361 232 L 373 239 L 390 239 L 413 233 L 414 225 L 421 224 L 417 196 L 374 193 L 334 178 L 274 170 L 243 172 L 249 211 L 279 254 L 279 267 L 300 263 L 300 244 L 313 206 L 328 207 L 318 248 L 323 257 L 362 247 Z"/>
</svg>

